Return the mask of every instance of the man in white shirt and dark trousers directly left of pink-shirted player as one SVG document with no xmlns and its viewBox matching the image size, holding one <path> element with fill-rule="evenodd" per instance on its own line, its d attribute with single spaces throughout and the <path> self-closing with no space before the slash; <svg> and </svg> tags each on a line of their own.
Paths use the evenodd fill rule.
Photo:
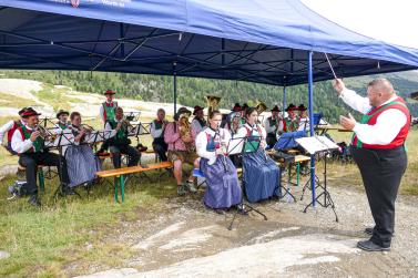
<svg viewBox="0 0 418 278">
<path fill-rule="evenodd" d="M 159 154 L 159 157 L 162 162 L 167 161 L 167 155 L 165 154 L 169 150 L 169 145 L 164 141 L 164 130 L 167 125 L 167 121 L 165 120 L 165 111 L 163 109 L 159 109 L 156 112 L 156 120 L 151 122 L 151 136 L 154 138 L 152 142 L 152 147 Z"/>
</svg>

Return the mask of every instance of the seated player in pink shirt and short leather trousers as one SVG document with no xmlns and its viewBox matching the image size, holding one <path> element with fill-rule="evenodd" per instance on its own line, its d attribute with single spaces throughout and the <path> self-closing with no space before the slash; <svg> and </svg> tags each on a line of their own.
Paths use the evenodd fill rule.
<svg viewBox="0 0 418 278">
<path fill-rule="evenodd" d="M 195 152 L 196 134 L 188 123 L 191 111 L 186 107 L 179 109 L 174 115 L 174 122 L 169 123 L 164 131 L 164 141 L 169 144 L 169 161 L 174 165 L 174 178 L 177 184 L 180 196 L 187 192 L 197 192 L 194 186 L 193 172 L 187 181 L 183 183 L 182 167 L 184 163 L 198 168 L 198 156 Z"/>
</svg>

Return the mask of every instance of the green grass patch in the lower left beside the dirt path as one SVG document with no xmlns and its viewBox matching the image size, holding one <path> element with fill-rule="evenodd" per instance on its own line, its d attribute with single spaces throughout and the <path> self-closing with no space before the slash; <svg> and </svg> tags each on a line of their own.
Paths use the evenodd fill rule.
<svg viewBox="0 0 418 278">
<path fill-rule="evenodd" d="M 0 182 L 1 199 L 6 199 L 4 188 L 13 179 L 9 176 Z M 176 189 L 167 178 L 159 185 L 129 184 L 125 203 L 116 204 L 112 188 L 102 184 L 93 188 L 91 197 L 81 191 L 82 199 L 69 197 L 54 203 L 55 185 L 57 181 L 47 181 L 41 209 L 30 207 L 27 198 L 0 204 L 0 250 L 11 254 L 1 260 L 0 276 L 63 276 L 62 269 L 79 260 L 78 274 L 91 264 L 116 266 L 132 254 L 123 243 L 106 243 L 104 238 L 118 235 L 115 227 L 121 219 L 139 219 L 139 207 L 159 210 L 163 197 L 175 196 Z M 93 248 L 85 248 L 86 243 Z"/>
</svg>

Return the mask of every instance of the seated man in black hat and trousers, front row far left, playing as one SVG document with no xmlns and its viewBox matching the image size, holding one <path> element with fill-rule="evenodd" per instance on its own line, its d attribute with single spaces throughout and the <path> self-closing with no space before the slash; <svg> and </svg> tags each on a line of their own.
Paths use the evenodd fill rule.
<svg viewBox="0 0 418 278">
<path fill-rule="evenodd" d="M 60 182 L 62 183 L 64 193 L 73 193 L 68 187 L 70 179 L 67 172 L 65 158 L 44 150 L 44 138 L 41 131 L 38 130 L 39 115 L 33 109 L 28 109 L 23 112 L 22 117 L 27 120 L 27 123 L 16 130 L 11 140 L 12 150 L 20 156 L 19 164 L 26 167 L 27 192 L 30 195 L 29 204 L 33 206 L 41 206 L 37 186 L 38 165 L 57 166 L 59 177 L 62 178 Z"/>
</svg>

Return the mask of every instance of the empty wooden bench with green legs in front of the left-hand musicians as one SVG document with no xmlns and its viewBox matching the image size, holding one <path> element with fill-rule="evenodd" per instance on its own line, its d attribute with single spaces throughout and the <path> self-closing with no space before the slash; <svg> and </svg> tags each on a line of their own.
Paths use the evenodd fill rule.
<svg viewBox="0 0 418 278">
<path fill-rule="evenodd" d="M 145 166 L 132 166 L 132 167 L 124 167 L 124 168 L 116 168 L 116 169 L 108 169 L 108 171 L 100 171 L 95 174 L 98 177 L 114 177 L 114 200 L 119 202 L 119 187 L 121 188 L 121 197 L 122 202 L 125 200 L 125 175 L 129 174 L 137 174 L 144 173 L 149 171 L 155 169 L 164 169 L 164 168 L 172 168 L 173 164 L 171 162 L 162 162 L 155 164 L 149 164 Z"/>
</svg>

